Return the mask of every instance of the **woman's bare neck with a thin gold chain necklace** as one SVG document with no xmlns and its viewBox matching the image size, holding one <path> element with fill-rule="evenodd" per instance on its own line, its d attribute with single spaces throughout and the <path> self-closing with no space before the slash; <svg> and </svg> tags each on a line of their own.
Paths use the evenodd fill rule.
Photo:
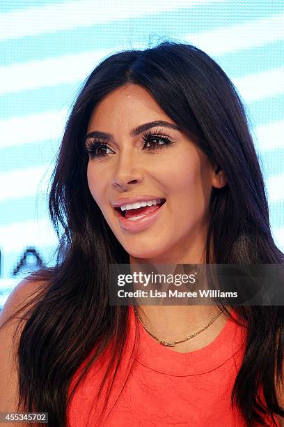
<svg viewBox="0 0 284 427">
<path fill-rule="evenodd" d="M 212 259 L 212 242 L 210 244 L 210 255 Z M 201 248 L 196 253 L 188 253 L 186 257 L 166 257 L 160 256 L 151 260 L 139 259 L 129 256 L 131 269 L 139 269 L 139 264 L 147 264 L 147 269 L 155 266 L 158 273 L 173 274 L 176 272 L 177 264 L 205 264 L 205 249 Z M 149 265 L 150 264 L 150 265 Z M 159 269 L 159 264 L 163 264 Z M 145 267 L 144 267 L 145 268 Z M 180 267 L 178 267 L 180 268 Z M 184 270 L 187 266 L 183 266 Z M 159 271 L 160 270 L 160 271 Z M 154 306 L 154 305 L 139 305 L 136 306 L 136 313 L 141 318 L 141 321 L 149 329 L 152 334 L 155 334 L 159 339 L 166 341 L 182 340 L 187 336 L 194 334 L 199 329 L 212 320 L 212 317 L 219 312 L 219 307 L 215 305 L 207 306 Z M 205 331 L 198 336 L 192 338 L 185 343 L 179 343 L 173 350 L 178 352 L 187 352 L 190 349 L 195 350 L 206 345 L 210 340 L 214 339 L 216 334 L 223 327 L 227 317 L 223 313 L 210 325 Z"/>
</svg>

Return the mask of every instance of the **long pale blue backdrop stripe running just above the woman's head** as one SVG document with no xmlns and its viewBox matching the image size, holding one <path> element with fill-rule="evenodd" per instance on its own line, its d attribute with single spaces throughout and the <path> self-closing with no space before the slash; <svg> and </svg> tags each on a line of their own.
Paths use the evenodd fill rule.
<svg viewBox="0 0 284 427">
<path fill-rule="evenodd" d="M 143 17 L 94 24 L 90 27 L 25 36 L 20 41 L 4 40 L 0 43 L 0 65 L 7 66 L 15 61 L 21 63 L 106 47 L 116 48 L 119 45 L 128 46 L 138 41 L 147 43 L 151 38 L 154 42 L 159 38 L 182 41 L 182 37 L 187 33 L 242 24 L 275 15 L 280 13 L 280 9 L 280 3 L 271 4 L 267 0 L 245 0 L 242 1 L 242 7 L 237 2 L 226 1 L 217 5 L 200 4 L 191 8 L 184 7 Z"/>
</svg>

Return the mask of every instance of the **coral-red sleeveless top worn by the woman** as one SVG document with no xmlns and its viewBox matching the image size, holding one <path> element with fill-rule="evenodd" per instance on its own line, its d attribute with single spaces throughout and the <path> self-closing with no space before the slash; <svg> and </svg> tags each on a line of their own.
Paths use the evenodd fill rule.
<svg viewBox="0 0 284 427">
<path fill-rule="evenodd" d="M 212 343 L 180 353 L 152 338 L 136 319 L 132 306 L 129 315 L 125 355 L 104 418 L 97 424 L 104 394 L 102 399 L 95 396 L 105 373 L 107 351 L 74 393 L 68 409 L 70 427 L 246 426 L 239 411 L 230 407 L 230 394 L 244 354 L 244 328 L 229 319 Z M 137 340 L 139 351 L 134 357 Z M 110 376 L 112 379 L 113 374 Z M 271 420 L 266 421 L 267 426 L 273 426 Z"/>
</svg>

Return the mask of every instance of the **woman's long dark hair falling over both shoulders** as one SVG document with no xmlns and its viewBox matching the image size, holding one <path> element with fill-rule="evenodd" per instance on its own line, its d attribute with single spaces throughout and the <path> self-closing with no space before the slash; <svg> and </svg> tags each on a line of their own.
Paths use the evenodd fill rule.
<svg viewBox="0 0 284 427">
<path fill-rule="evenodd" d="M 51 427 L 67 424 L 70 380 L 91 350 L 95 352 L 81 378 L 110 343 L 112 356 L 104 380 L 112 366 L 115 377 L 129 330 L 128 308 L 109 306 L 109 264 L 127 264 L 129 255 L 90 195 L 84 150 L 93 108 L 127 83 L 147 89 L 226 174 L 227 185 L 212 189 L 205 262 L 212 262 L 211 238 L 216 263 L 284 261 L 271 237 L 265 184 L 246 112 L 220 66 L 194 46 L 168 41 L 104 59 L 86 80 L 65 127 L 49 191 L 50 216 L 60 239 L 56 265 L 30 277 L 48 285 L 29 306 L 19 340 L 19 403 L 26 411 L 49 412 Z M 232 404 L 248 426 L 265 425 L 265 414 L 275 422 L 274 414 L 284 416 L 275 382 L 275 374 L 277 381 L 282 375 L 283 307 L 236 306 L 235 311 L 247 328 L 247 338 Z"/>
</svg>

